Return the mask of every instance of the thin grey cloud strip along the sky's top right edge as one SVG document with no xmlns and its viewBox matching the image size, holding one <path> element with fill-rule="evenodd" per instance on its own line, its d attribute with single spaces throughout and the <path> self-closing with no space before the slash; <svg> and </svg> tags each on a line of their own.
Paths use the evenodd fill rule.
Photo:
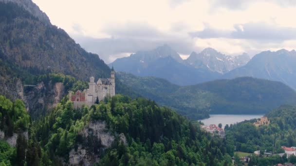
<svg viewBox="0 0 296 166">
<path fill-rule="evenodd" d="M 233 10 L 246 9 L 249 5 L 258 2 L 271 2 L 282 7 L 296 5 L 296 0 L 210 0 L 212 8 L 225 7 Z"/>
</svg>

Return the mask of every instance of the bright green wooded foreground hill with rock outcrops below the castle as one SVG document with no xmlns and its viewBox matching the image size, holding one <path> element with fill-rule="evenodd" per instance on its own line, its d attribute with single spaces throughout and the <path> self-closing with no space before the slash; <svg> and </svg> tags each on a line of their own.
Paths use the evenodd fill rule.
<svg viewBox="0 0 296 166">
<path fill-rule="evenodd" d="M 24 110 L 24 104 L 17 102 Z M 11 109 L 12 103 L 0 96 L 3 116 Z M 20 120 L 27 122 L 28 119 Z M 23 124 L 15 122 L 18 126 Z M 222 139 L 203 132 L 174 111 L 142 98 L 131 100 L 116 95 L 106 103 L 81 110 L 75 110 L 73 103 L 65 99 L 28 130 L 29 136 L 18 136 L 16 147 L 0 140 L 1 162 L 7 166 L 25 163 L 29 166 L 220 166 L 231 163 Z"/>
</svg>

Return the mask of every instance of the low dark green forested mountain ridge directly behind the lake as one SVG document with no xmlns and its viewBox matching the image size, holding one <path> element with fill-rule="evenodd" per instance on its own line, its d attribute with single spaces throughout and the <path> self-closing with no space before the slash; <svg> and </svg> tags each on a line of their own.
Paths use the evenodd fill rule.
<svg viewBox="0 0 296 166">
<path fill-rule="evenodd" d="M 296 103 L 296 92 L 274 81 L 242 77 L 179 86 L 164 79 L 118 72 L 116 77 L 143 97 L 192 118 L 208 114 L 262 114 L 282 104 Z"/>
</svg>

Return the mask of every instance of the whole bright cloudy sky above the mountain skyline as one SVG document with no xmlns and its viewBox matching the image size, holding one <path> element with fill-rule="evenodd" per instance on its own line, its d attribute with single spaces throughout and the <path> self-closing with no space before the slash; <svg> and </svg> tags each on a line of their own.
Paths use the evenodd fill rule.
<svg viewBox="0 0 296 166">
<path fill-rule="evenodd" d="M 168 44 L 182 58 L 296 48 L 296 0 L 33 0 L 106 63 Z"/>
</svg>

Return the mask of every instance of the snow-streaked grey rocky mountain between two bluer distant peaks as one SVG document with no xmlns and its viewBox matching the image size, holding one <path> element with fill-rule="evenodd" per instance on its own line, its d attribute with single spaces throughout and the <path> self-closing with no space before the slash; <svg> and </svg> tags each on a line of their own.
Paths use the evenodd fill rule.
<svg viewBox="0 0 296 166">
<path fill-rule="evenodd" d="M 212 48 L 206 48 L 200 53 L 192 52 L 185 62 L 195 68 L 209 69 L 224 74 L 244 66 L 249 60 L 250 57 L 246 53 L 238 56 L 226 56 Z"/>
</svg>

